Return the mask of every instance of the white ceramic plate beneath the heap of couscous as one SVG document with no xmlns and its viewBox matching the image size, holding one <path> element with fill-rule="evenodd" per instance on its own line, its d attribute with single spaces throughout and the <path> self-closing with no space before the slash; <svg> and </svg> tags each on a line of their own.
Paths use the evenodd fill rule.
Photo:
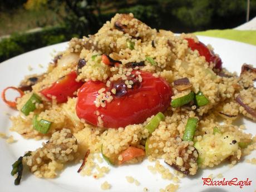
<svg viewBox="0 0 256 192">
<path fill-rule="evenodd" d="M 243 63 L 251 63 L 256 66 L 256 47 L 239 43 L 235 41 L 223 40 L 219 38 L 210 38 L 200 36 L 200 41 L 205 44 L 210 43 L 215 52 L 218 53 L 223 61 L 223 66 L 230 71 L 237 71 L 240 73 L 240 68 Z M 53 50 L 65 50 L 67 43 L 60 43 L 53 46 L 40 48 L 35 51 L 24 53 L 23 55 L 14 57 L 10 60 L 0 64 L 0 91 L 7 86 L 18 86 L 19 82 L 23 79 L 24 75 L 39 73 L 46 70 L 47 63 L 52 60 L 51 53 Z M 40 68 L 38 64 L 42 64 L 44 68 Z M 32 66 L 33 70 L 28 71 L 28 66 Z M 100 185 L 104 181 L 111 184 L 109 191 L 143 191 L 146 187 L 149 191 L 159 191 L 160 188 L 165 188 L 166 185 L 172 181 L 161 179 L 160 174 L 151 174 L 147 169 L 147 165 L 154 165 L 148 161 L 142 164 L 121 166 L 119 168 L 111 168 L 110 173 L 104 178 L 93 179 L 92 176 L 82 177 L 77 174 L 77 169 L 80 164 L 68 166 L 61 175 L 56 179 L 38 179 L 36 176 L 26 173 L 23 174 L 21 184 L 14 186 L 14 178 L 11 176 L 11 164 L 23 155 L 24 151 L 35 150 L 41 146 L 42 141 L 24 140 L 15 132 L 10 132 L 8 128 L 11 126 L 9 114 L 17 114 L 16 111 L 7 107 L 3 101 L 0 101 L 0 131 L 6 132 L 7 135 L 13 135 L 13 144 L 7 144 L 4 139 L 0 139 L 0 191 L 102 191 Z M 247 130 L 245 132 L 256 134 L 255 125 L 252 121 L 241 119 L 237 121 L 238 125 L 245 124 Z M 256 166 L 245 163 L 245 159 L 252 159 L 255 157 L 256 151 L 250 156 L 245 157 L 240 163 L 232 169 L 227 164 L 218 166 L 215 169 L 204 169 L 198 171 L 198 174 L 191 178 L 183 178 L 179 183 L 179 191 L 254 191 L 256 189 Z M 106 165 L 105 163 L 101 166 Z M 168 167 L 168 165 L 164 166 Z M 170 168 L 173 172 L 173 169 Z M 250 186 L 203 186 L 203 178 L 207 178 L 210 174 L 216 176 L 223 174 L 225 180 L 238 178 L 238 180 L 251 180 Z M 140 185 L 127 183 L 125 176 L 133 176 L 139 180 Z M 215 178 L 215 180 L 222 180 Z"/>
</svg>

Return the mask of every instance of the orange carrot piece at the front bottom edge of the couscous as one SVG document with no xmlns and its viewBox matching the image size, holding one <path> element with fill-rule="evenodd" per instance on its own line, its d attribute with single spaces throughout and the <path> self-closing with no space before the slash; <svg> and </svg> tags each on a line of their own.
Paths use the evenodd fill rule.
<svg viewBox="0 0 256 192">
<path fill-rule="evenodd" d="M 145 156 L 145 151 L 143 149 L 137 147 L 128 147 L 126 150 L 121 152 L 122 160 L 119 161 L 119 164 L 124 163 L 125 161 L 129 161 L 134 159 L 135 157 Z"/>
</svg>

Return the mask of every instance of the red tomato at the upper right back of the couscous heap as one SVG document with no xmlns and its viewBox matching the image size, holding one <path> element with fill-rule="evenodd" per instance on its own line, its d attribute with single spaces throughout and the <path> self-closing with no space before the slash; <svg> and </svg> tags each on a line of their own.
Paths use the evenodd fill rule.
<svg viewBox="0 0 256 192">
<path fill-rule="evenodd" d="M 192 38 L 185 38 L 188 41 L 188 45 L 191 50 L 198 50 L 200 56 L 204 56 L 207 62 L 213 62 L 215 64 L 214 68 L 218 68 L 221 70 L 222 61 L 221 59 L 214 54 L 213 51 L 209 50 L 207 46 L 202 42 L 196 43 Z"/>
</svg>

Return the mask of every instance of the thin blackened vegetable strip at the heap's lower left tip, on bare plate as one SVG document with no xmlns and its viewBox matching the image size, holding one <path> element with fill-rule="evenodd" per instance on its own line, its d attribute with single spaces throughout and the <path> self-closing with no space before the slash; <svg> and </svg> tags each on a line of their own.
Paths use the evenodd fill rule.
<svg viewBox="0 0 256 192">
<path fill-rule="evenodd" d="M 31 151 L 28 151 L 24 156 L 30 156 L 30 155 L 31 155 Z M 21 183 L 22 172 L 23 172 L 22 159 L 24 156 L 20 156 L 18 160 L 12 164 L 11 175 L 14 176 L 15 174 L 17 174 L 17 178 L 14 180 L 14 185 L 19 185 L 19 183 Z"/>
</svg>

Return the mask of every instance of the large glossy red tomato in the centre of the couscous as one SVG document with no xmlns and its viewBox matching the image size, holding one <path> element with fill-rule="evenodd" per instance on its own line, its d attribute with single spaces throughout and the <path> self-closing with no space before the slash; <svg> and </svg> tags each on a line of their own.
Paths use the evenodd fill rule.
<svg viewBox="0 0 256 192">
<path fill-rule="evenodd" d="M 103 126 L 107 128 L 125 127 L 131 124 L 140 124 L 147 117 L 165 111 L 170 106 L 173 92 L 163 78 L 152 76 L 149 72 L 140 71 L 142 82 L 135 81 L 132 88 L 125 87 L 122 80 L 112 82 L 111 87 L 106 87 L 101 81 L 87 81 L 78 91 L 76 114 L 92 125 L 99 125 L 96 111 L 99 111 Z M 135 76 L 136 71 L 132 71 Z M 111 91 L 116 88 L 114 99 L 106 102 L 105 107 L 96 107 L 95 100 L 98 91 L 106 88 Z"/>
</svg>

